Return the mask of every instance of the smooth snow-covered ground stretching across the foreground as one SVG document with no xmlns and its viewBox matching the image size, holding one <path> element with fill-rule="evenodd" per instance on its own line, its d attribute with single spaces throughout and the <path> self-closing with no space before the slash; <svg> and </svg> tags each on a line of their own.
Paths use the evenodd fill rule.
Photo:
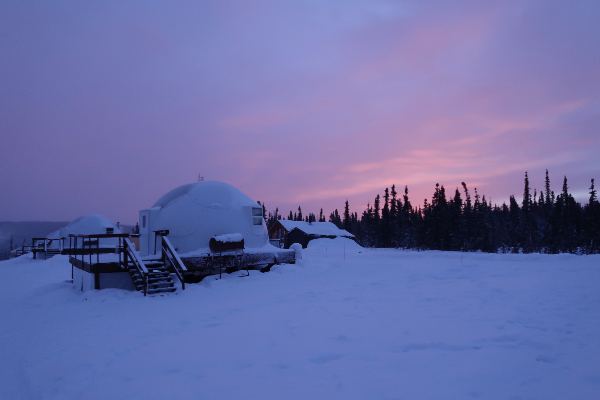
<svg viewBox="0 0 600 400">
<path fill-rule="evenodd" d="M 600 399 L 599 256 L 345 243 L 164 297 L 2 261 L 0 398 Z"/>
</svg>

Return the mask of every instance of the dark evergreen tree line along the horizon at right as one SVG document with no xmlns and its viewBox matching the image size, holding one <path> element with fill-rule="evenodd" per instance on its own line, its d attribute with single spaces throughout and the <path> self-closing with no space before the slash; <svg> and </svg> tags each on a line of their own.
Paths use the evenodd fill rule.
<svg viewBox="0 0 600 400">
<path fill-rule="evenodd" d="M 395 185 L 375 197 L 367 209 L 351 213 L 346 200 L 343 215 L 336 209 L 329 222 L 355 234 L 356 242 L 366 247 L 407 248 L 418 250 L 451 250 L 483 252 L 569 252 L 596 254 L 600 252 L 600 204 L 592 179 L 589 201 L 583 206 L 569 193 L 567 178 L 562 191 L 550 190 L 548 170 L 545 188 L 531 193 L 529 176 L 525 173 L 523 201 L 514 196 L 509 204 L 492 205 L 477 188 L 473 196 L 463 182 L 454 196 L 436 184 L 431 201 L 413 207 L 408 187 L 399 194 Z M 281 219 L 279 210 L 265 214 L 267 226 Z M 308 221 L 298 207 L 287 216 L 293 221 Z M 312 219 L 313 221 L 316 220 Z M 318 221 L 325 221 L 321 209 Z"/>
</svg>

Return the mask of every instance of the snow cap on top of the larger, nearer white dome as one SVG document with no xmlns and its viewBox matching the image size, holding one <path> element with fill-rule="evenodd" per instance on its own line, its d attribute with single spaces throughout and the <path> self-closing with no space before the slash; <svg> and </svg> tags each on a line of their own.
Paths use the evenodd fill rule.
<svg viewBox="0 0 600 400">
<path fill-rule="evenodd" d="M 164 209 L 183 197 L 187 197 L 200 206 L 213 209 L 227 209 L 234 206 L 256 206 L 256 201 L 250 199 L 250 197 L 230 184 L 218 181 L 202 181 L 173 189 L 158 199 L 152 208 L 158 207 Z"/>
</svg>

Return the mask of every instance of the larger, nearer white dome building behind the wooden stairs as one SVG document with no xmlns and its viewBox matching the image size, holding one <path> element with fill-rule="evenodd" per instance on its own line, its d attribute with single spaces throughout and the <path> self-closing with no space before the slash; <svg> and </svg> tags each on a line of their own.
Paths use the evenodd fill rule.
<svg viewBox="0 0 600 400">
<path fill-rule="evenodd" d="M 224 182 L 194 182 L 173 189 L 140 211 L 140 254 L 154 253 L 154 231 L 169 230 L 179 254 L 208 252 L 212 236 L 241 233 L 245 248 L 262 248 L 269 236 L 260 204 Z"/>
</svg>

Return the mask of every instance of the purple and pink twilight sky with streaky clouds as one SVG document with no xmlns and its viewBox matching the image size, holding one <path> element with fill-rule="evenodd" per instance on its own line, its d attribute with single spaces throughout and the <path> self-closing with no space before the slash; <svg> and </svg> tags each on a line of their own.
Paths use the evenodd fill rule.
<svg viewBox="0 0 600 400">
<path fill-rule="evenodd" d="M 0 1 L 0 220 L 600 179 L 598 1 Z"/>
</svg>

